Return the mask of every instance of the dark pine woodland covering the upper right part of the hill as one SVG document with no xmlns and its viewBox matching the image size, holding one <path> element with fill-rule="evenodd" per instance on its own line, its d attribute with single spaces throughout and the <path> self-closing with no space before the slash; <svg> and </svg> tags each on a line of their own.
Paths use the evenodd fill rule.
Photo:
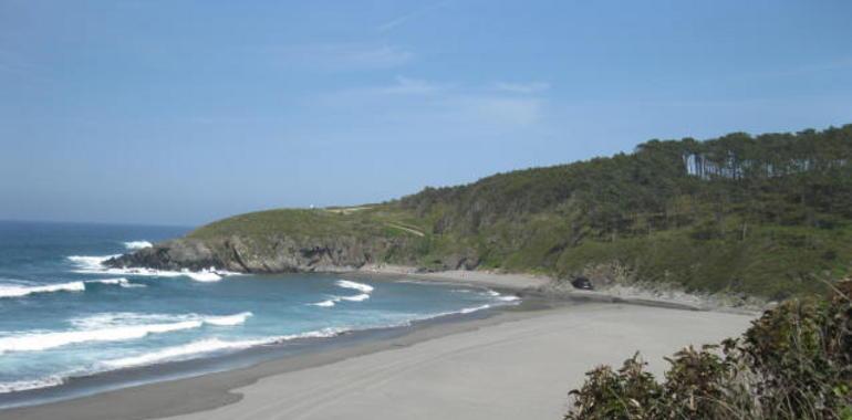
<svg viewBox="0 0 852 420">
<path fill-rule="evenodd" d="M 830 228 L 852 217 L 852 125 L 824 132 L 744 133 L 697 141 L 651 140 L 630 155 L 500 174 L 427 188 L 401 200 L 438 232 L 477 233 L 547 213 L 580 237 L 647 234 L 700 222 L 725 237 L 748 224 Z"/>
</svg>

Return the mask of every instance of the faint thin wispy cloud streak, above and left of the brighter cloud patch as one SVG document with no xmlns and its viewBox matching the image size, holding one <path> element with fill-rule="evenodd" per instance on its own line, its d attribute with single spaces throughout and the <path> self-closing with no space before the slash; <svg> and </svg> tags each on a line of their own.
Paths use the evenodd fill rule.
<svg viewBox="0 0 852 420">
<path fill-rule="evenodd" d="M 325 43 L 264 49 L 288 66 L 324 71 L 392 69 L 408 63 L 414 54 L 393 45 Z"/>
</svg>

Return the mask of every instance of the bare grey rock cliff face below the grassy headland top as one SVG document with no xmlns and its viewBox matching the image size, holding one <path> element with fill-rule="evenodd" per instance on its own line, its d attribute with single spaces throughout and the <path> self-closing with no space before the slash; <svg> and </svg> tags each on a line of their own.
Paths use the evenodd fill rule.
<svg viewBox="0 0 852 420">
<path fill-rule="evenodd" d="M 262 241 L 233 235 L 221 239 L 184 238 L 125 254 L 105 264 L 115 267 L 152 267 L 193 271 L 215 266 L 241 273 L 351 271 L 368 263 L 417 265 L 405 255 L 416 245 L 408 238 L 264 238 Z M 440 269 L 472 269 L 470 255 L 438 261 Z"/>
</svg>

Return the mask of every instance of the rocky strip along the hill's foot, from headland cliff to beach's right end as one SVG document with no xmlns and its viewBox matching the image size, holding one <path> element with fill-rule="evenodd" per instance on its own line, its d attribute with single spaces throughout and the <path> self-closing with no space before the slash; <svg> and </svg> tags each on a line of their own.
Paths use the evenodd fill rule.
<svg viewBox="0 0 852 420">
<path fill-rule="evenodd" d="M 440 266 L 443 270 L 430 270 L 414 264 L 376 263 L 375 255 L 383 255 L 389 248 L 404 245 L 386 239 L 361 241 L 347 237 L 303 240 L 279 238 L 269 243 L 271 245 L 260 246 L 257 242 L 239 237 L 221 240 L 181 238 L 107 260 L 104 264 L 114 267 L 173 271 L 216 267 L 257 274 L 359 272 L 409 275 L 425 280 L 505 287 L 554 300 L 632 303 L 693 311 L 755 313 L 771 306 L 771 302 L 744 294 L 688 292 L 673 283 L 643 282 L 636 279 L 631 270 L 615 263 L 589 266 L 575 275 L 555 279 L 541 274 L 476 270 L 476 260 L 458 256 L 455 256 L 454 261 L 445 262 Z M 586 279 L 593 290 L 575 288 L 571 280 L 576 276 Z"/>
</svg>

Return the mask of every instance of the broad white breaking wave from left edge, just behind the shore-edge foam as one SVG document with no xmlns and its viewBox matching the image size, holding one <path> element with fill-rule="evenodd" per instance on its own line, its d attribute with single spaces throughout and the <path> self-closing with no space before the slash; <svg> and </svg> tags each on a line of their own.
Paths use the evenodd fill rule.
<svg viewBox="0 0 852 420">
<path fill-rule="evenodd" d="M 117 315 L 117 316 L 116 316 Z M 144 319 L 157 319 L 169 315 L 137 315 L 102 314 L 94 317 L 72 321 L 72 324 L 83 329 L 64 332 L 31 332 L 0 337 L 0 355 L 11 351 L 40 351 L 50 348 L 92 342 L 124 342 L 143 338 L 150 334 L 164 334 L 184 329 L 200 328 L 205 324 L 215 326 L 233 326 L 246 322 L 251 313 L 240 313 L 228 316 L 199 316 L 196 314 L 176 315 L 177 322 L 158 324 L 139 324 Z M 121 324 L 121 321 L 129 321 Z"/>
</svg>

